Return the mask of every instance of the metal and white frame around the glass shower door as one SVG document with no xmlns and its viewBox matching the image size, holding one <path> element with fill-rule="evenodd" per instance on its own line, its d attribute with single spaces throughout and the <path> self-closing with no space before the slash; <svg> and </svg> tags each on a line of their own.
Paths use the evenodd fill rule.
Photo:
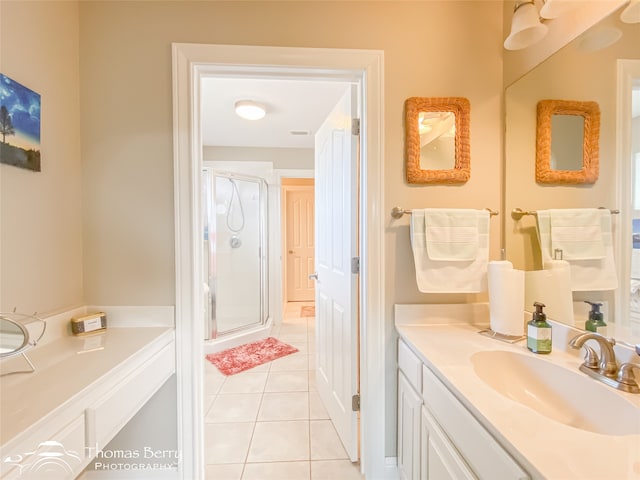
<svg viewBox="0 0 640 480">
<path fill-rule="evenodd" d="M 264 178 L 257 177 L 255 175 L 247 175 L 243 173 L 230 172 L 228 170 L 217 170 L 215 167 L 204 166 L 202 172 L 205 177 L 209 177 L 210 185 L 209 190 L 203 192 L 203 212 L 206 216 L 206 224 L 208 227 L 209 237 L 209 265 L 211 268 L 211 257 L 216 255 L 217 248 L 214 242 L 211 242 L 212 233 L 217 233 L 218 228 L 216 225 L 216 178 L 228 178 L 234 180 L 241 180 L 243 182 L 255 182 L 258 184 L 258 236 L 259 236 L 259 258 L 260 258 L 260 308 L 259 319 L 256 322 L 235 327 L 232 329 L 224 330 L 220 332 L 218 329 L 218 318 L 216 312 L 217 306 L 217 288 L 212 286 L 209 282 L 211 277 L 215 277 L 216 285 L 218 283 L 216 267 L 213 267 L 213 271 L 209 270 L 207 275 L 207 283 L 209 285 L 210 297 L 208 300 L 208 306 L 210 308 L 211 315 L 207 322 L 205 322 L 205 340 L 212 340 L 225 335 L 233 335 L 243 330 L 252 329 L 255 327 L 263 326 L 269 319 L 269 239 L 267 236 L 267 222 L 268 222 L 268 185 Z M 208 195 L 207 195 L 208 194 Z M 231 208 L 231 206 L 229 206 Z M 213 229 L 212 229 L 213 226 Z M 204 263 L 204 262 L 203 262 Z M 217 262 L 214 263 L 217 265 Z"/>
</svg>

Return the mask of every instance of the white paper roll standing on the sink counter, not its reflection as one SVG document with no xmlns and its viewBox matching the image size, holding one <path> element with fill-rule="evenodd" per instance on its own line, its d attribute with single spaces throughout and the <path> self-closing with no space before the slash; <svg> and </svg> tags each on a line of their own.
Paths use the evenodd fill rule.
<svg viewBox="0 0 640 480">
<path fill-rule="evenodd" d="M 524 335 L 524 272 L 506 260 L 489 262 L 489 324 L 503 335 Z"/>
</svg>

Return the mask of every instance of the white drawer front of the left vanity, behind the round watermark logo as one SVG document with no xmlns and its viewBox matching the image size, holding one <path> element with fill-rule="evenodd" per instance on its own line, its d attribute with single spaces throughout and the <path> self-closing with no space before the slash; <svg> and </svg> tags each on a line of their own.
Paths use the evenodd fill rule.
<svg viewBox="0 0 640 480">
<path fill-rule="evenodd" d="M 84 415 L 46 441 L 32 438 L 22 445 L 20 451 L 14 451 L 2 459 L 3 467 L 7 469 L 6 475 L 2 475 L 3 480 L 73 479 L 85 466 Z"/>
</svg>

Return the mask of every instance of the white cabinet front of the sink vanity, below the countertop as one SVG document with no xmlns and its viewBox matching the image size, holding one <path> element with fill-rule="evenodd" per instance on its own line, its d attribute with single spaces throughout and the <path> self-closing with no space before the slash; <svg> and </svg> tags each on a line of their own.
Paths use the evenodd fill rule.
<svg viewBox="0 0 640 480">
<path fill-rule="evenodd" d="M 398 344 L 398 367 L 401 479 L 530 478 L 402 340 Z"/>
</svg>

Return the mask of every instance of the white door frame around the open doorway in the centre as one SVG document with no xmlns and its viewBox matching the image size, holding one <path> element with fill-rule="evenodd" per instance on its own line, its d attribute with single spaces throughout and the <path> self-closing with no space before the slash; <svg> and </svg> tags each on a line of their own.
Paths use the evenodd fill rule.
<svg viewBox="0 0 640 480">
<path fill-rule="evenodd" d="M 205 75 L 278 75 L 355 81 L 363 106 L 360 169 L 361 469 L 393 478 L 385 462 L 383 223 L 383 52 L 297 47 L 172 44 L 176 377 L 179 475 L 204 478 L 202 318 L 202 139 L 200 79 Z"/>
</svg>

